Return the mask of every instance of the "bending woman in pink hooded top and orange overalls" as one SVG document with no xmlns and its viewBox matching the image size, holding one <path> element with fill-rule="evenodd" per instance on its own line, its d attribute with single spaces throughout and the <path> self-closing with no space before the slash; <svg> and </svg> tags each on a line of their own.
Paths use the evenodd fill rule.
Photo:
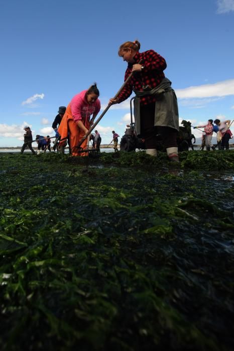
<svg viewBox="0 0 234 351">
<path fill-rule="evenodd" d="M 72 156 L 79 156 L 79 152 L 87 147 L 87 139 L 85 139 L 80 148 L 77 147 L 80 140 L 88 132 L 90 125 L 100 111 L 100 100 L 98 99 L 99 90 L 96 83 L 90 86 L 89 89 L 81 91 L 75 95 L 68 104 L 63 119 L 59 125 L 58 132 L 61 135 L 60 147 L 68 138 Z M 92 118 L 90 119 L 92 115 Z"/>
</svg>

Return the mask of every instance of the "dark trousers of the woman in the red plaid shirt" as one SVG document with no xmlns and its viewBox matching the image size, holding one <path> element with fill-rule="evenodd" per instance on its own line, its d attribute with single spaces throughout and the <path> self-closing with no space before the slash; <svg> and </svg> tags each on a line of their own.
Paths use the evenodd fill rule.
<svg viewBox="0 0 234 351">
<path fill-rule="evenodd" d="M 157 134 L 161 135 L 165 148 L 177 147 L 177 130 L 171 127 L 154 126 L 155 103 L 141 106 L 141 137 L 146 149 L 157 148 Z"/>
</svg>

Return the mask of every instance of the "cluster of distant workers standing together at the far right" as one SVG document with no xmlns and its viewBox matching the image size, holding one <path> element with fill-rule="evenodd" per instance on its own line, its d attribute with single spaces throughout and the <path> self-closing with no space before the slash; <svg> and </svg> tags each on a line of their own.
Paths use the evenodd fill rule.
<svg viewBox="0 0 234 351">
<path fill-rule="evenodd" d="M 214 124 L 213 124 L 214 123 Z M 232 133 L 230 131 L 231 122 L 229 119 L 221 122 L 220 119 L 208 119 L 207 124 L 198 125 L 193 128 L 204 128 L 202 131 L 202 140 L 201 140 L 201 149 L 203 150 L 206 147 L 207 151 L 215 150 L 215 147 L 218 147 L 218 150 L 228 150 L 229 149 L 229 139 L 232 138 Z M 211 142 L 213 132 L 216 133 L 217 143 L 214 146 Z"/>
</svg>

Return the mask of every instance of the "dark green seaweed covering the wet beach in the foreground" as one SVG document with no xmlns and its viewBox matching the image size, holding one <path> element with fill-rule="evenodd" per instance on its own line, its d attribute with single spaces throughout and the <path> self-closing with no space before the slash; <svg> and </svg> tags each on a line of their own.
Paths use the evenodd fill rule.
<svg viewBox="0 0 234 351">
<path fill-rule="evenodd" d="M 0 154 L 1 350 L 232 350 L 234 150 Z"/>
</svg>

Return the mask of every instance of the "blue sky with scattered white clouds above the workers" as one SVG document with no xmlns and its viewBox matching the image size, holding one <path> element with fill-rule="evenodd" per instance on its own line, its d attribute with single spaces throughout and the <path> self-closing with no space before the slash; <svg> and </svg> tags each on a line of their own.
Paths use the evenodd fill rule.
<svg viewBox="0 0 234 351">
<path fill-rule="evenodd" d="M 124 80 L 119 46 L 136 39 L 166 59 L 180 120 L 232 120 L 233 36 L 234 0 L 2 2 L 0 146 L 22 145 L 25 125 L 54 136 L 58 107 L 94 81 L 104 108 Z M 123 135 L 129 116 L 129 101 L 110 107 L 97 125 L 102 142 L 113 129 Z"/>
</svg>

